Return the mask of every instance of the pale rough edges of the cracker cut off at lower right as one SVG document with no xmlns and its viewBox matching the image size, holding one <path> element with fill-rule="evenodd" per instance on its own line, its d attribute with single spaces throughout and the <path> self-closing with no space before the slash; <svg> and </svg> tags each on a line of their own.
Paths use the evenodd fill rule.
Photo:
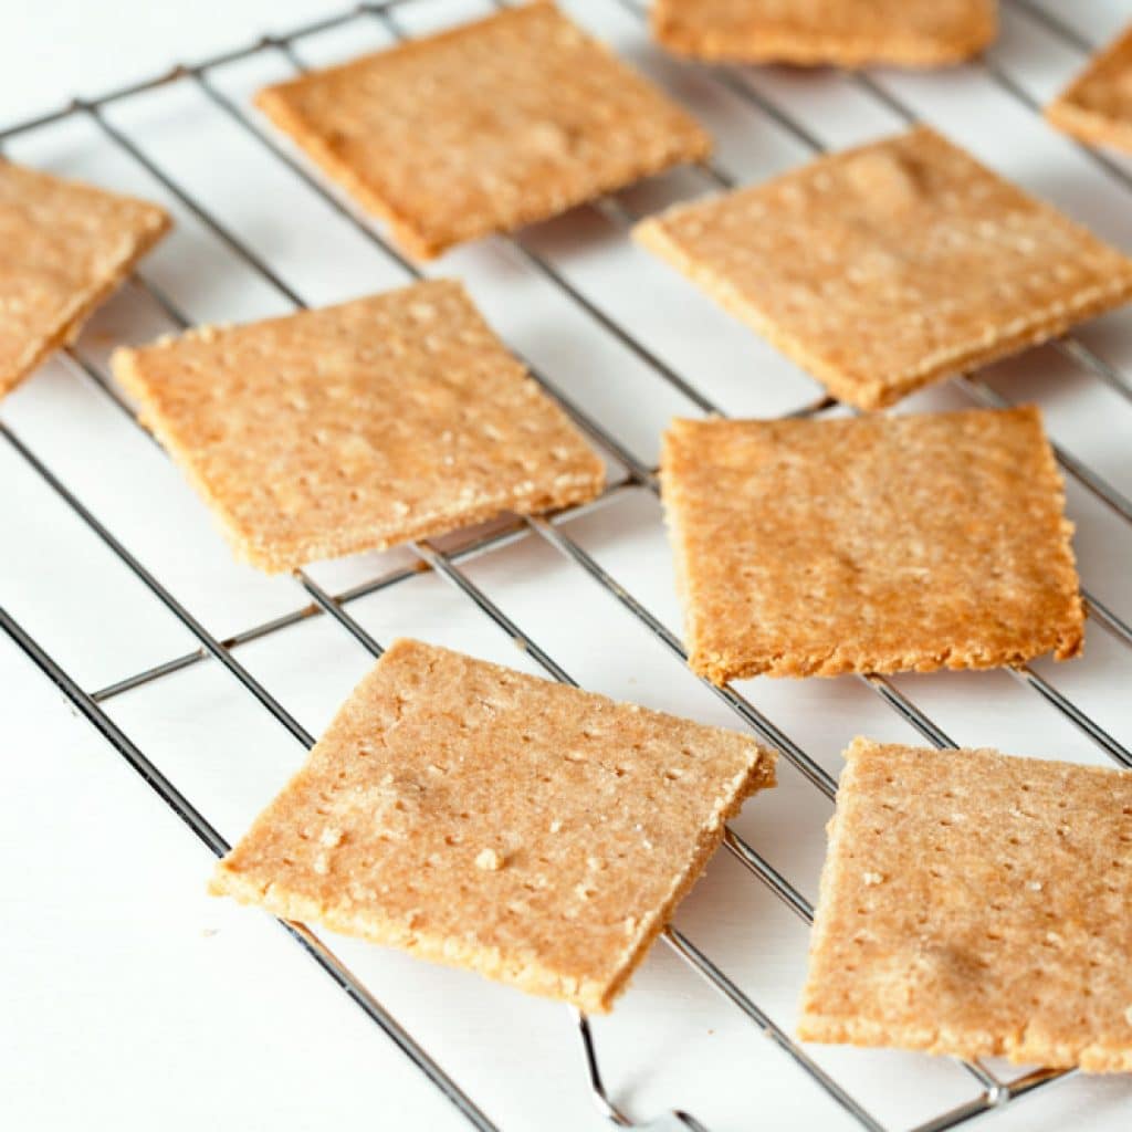
<svg viewBox="0 0 1132 1132">
<path fill-rule="evenodd" d="M 842 771 L 838 783 L 839 797 L 841 790 L 854 781 L 857 760 L 867 758 L 869 755 L 883 751 L 886 746 L 892 746 L 892 744 L 877 743 L 875 739 L 868 739 L 864 736 L 856 736 L 852 739 L 843 753 L 846 769 Z M 924 749 L 927 754 L 941 754 L 929 748 L 920 749 Z M 1003 755 L 1002 752 L 997 751 L 993 753 L 1006 758 L 1018 757 Z M 947 752 L 947 754 L 954 757 L 962 757 L 963 749 Z M 1106 775 L 1112 773 L 1112 770 L 1106 766 L 1082 767 L 1077 764 L 1056 764 L 1056 762 L 1055 765 L 1073 765 L 1074 770 L 1087 770 Z M 833 851 L 838 838 L 842 832 L 839 817 L 843 813 L 843 807 L 837 806 L 833 811 L 833 816 L 825 826 L 827 846 L 818 882 L 814 926 L 809 936 L 806 981 L 803 986 L 798 1020 L 795 1026 L 796 1037 L 801 1041 L 815 1041 L 824 1045 L 911 1049 L 933 1055 L 962 1057 L 967 1061 L 972 1061 L 977 1057 L 1002 1056 L 1017 1065 L 1037 1063 L 1052 1069 L 1077 1067 L 1086 1073 L 1121 1073 L 1132 1071 L 1132 1049 L 1114 1050 L 1099 1043 L 1083 1046 L 1077 1050 L 1074 1056 L 1066 1056 L 1058 1060 L 1056 1048 L 1052 1047 L 1048 1043 L 1027 1043 L 1024 1030 L 1021 1040 L 1011 1040 L 1010 1038 L 1004 1040 L 1002 1036 L 987 1031 L 972 1036 L 963 1036 L 952 1030 L 941 1031 L 932 1024 L 923 1027 L 908 1024 L 886 1026 L 872 1020 L 825 1014 L 817 1009 L 816 1000 L 821 998 L 821 994 L 818 993 L 820 987 L 814 981 L 813 957 L 822 943 L 824 943 L 830 931 L 829 925 L 825 923 L 823 910 L 832 899 L 834 884 Z"/>
</svg>

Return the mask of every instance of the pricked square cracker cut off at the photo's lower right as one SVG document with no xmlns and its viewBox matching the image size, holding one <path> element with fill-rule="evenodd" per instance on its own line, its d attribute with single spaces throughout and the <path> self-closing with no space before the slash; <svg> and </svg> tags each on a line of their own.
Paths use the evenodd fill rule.
<svg viewBox="0 0 1132 1132">
<path fill-rule="evenodd" d="M 1132 774 L 855 739 L 798 1034 L 1132 1070 Z"/>
</svg>

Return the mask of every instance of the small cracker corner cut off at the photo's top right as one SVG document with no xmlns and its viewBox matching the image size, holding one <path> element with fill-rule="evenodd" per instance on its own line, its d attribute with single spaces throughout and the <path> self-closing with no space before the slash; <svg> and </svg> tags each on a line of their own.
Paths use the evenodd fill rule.
<svg viewBox="0 0 1132 1132">
<path fill-rule="evenodd" d="M 1046 106 L 1046 119 L 1082 142 L 1132 153 L 1132 25 Z"/>
</svg>

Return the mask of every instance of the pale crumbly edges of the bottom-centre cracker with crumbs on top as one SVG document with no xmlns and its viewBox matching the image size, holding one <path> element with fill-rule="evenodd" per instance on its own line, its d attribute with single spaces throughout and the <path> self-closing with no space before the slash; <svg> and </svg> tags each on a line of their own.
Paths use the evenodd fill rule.
<svg viewBox="0 0 1132 1132">
<path fill-rule="evenodd" d="M 372 674 L 380 667 L 384 659 L 391 654 L 395 655 L 398 646 L 405 643 L 412 642 L 410 638 L 404 637 L 398 637 L 391 642 L 388 649 L 379 658 L 374 669 L 362 678 L 359 686 L 351 692 L 350 696 L 340 706 L 327 731 L 335 727 L 338 718 L 351 706 L 354 695 L 372 677 Z M 550 680 L 544 683 L 554 686 Z M 588 693 L 588 695 L 597 696 L 618 707 L 632 706 L 624 702 L 614 701 L 608 696 L 602 696 L 600 693 Z M 653 714 L 662 715 L 664 713 L 654 712 Z M 258 883 L 246 878 L 241 874 L 230 872 L 225 866 L 226 858 L 221 858 L 216 863 L 212 878 L 208 882 L 207 891 L 214 897 L 228 895 L 241 904 L 266 909 L 280 919 L 318 923 L 331 931 L 357 936 L 370 943 L 398 947 L 415 958 L 426 959 L 446 967 L 474 971 L 488 979 L 505 981 L 507 985 L 515 986 L 529 994 L 537 994 L 542 997 L 571 1003 L 586 1013 L 606 1014 L 609 1013 L 614 1001 L 628 985 L 631 977 L 643 961 L 657 936 L 664 929 L 676 906 L 698 880 L 709 858 L 719 848 L 720 842 L 723 840 L 727 822 L 741 809 L 747 798 L 761 790 L 771 789 L 777 786 L 775 763 L 778 754 L 753 738 L 748 738 L 747 741 L 751 745 L 753 758 L 746 769 L 731 780 L 729 789 L 723 792 L 722 797 L 717 798 L 715 808 L 709 821 L 701 826 L 700 835 L 691 858 L 672 882 L 660 907 L 642 919 L 636 933 L 623 952 L 620 966 L 608 981 L 583 978 L 574 986 L 573 979 L 565 978 L 552 968 L 544 967 L 538 960 L 524 959 L 523 957 L 505 959 L 496 947 L 487 949 L 472 945 L 453 947 L 453 941 L 448 936 L 434 936 L 427 932 L 418 933 L 408 925 L 381 916 L 340 916 L 333 911 L 327 914 L 314 900 L 277 893 L 271 883 L 264 889 Z M 310 755 L 308 755 L 303 766 L 291 775 L 278 794 L 286 792 L 291 788 L 291 784 L 302 775 L 317 747 L 318 745 L 316 744 L 311 748 Z M 256 822 L 258 821 L 259 817 L 257 816 Z M 252 827 L 254 825 L 255 823 L 252 823 Z"/>
</svg>

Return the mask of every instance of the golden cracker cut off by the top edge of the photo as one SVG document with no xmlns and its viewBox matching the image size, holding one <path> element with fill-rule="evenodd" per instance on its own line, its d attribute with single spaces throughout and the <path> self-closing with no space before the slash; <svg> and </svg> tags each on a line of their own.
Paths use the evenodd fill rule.
<svg viewBox="0 0 1132 1132">
<path fill-rule="evenodd" d="M 657 0 L 653 35 L 678 54 L 732 62 L 941 67 L 998 31 L 995 0 Z"/>
</svg>

